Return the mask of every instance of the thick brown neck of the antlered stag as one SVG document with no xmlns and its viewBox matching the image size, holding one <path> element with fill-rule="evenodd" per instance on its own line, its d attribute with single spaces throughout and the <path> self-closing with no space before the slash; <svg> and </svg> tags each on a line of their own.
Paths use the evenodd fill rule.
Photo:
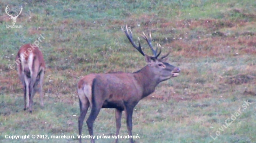
<svg viewBox="0 0 256 143">
<path fill-rule="evenodd" d="M 159 84 L 158 79 L 148 66 L 142 68 L 141 70 L 133 73 L 137 82 L 143 88 L 142 98 L 147 97 L 149 94 L 155 91 L 155 87 Z"/>
</svg>

